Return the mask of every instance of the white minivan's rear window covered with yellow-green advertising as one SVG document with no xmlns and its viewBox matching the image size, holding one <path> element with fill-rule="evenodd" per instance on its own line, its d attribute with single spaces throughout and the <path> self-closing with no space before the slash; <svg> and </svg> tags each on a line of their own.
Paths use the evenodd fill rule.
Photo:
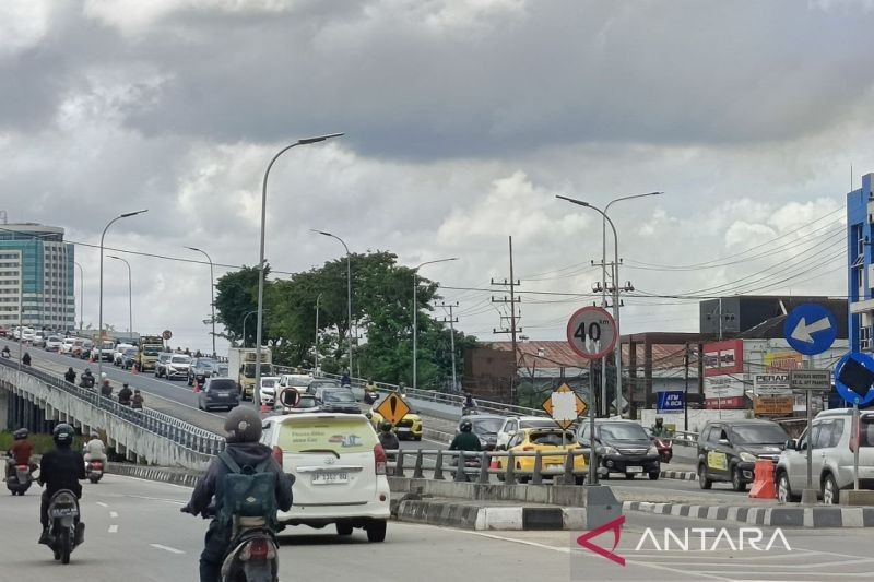
<svg viewBox="0 0 874 582">
<path fill-rule="evenodd" d="M 280 425 L 279 447 L 286 453 L 373 451 L 376 433 L 366 418 L 307 418 Z"/>
</svg>

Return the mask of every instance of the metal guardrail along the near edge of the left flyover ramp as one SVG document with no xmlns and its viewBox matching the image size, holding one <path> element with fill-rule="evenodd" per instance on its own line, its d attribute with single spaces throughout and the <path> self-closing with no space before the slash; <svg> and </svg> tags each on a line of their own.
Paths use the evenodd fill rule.
<svg viewBox="0 0 874 582">
<path fill-rule="evenodd" d="M 17 363 L 13 360 L 0 358 L 0 365 L 17 369 Z M 218 454 L 225 447 L 225 439 L 220 435 L 147 407 L 131 408 L 119 404 L 116 400 L 101 395 L 96 384 L 93 389 L 82 388 L 66 381 L 59 376 L 29 366 L 22 366 L 21 372 L 37 378 L 52 388 L 62 390 L 94 407 L 106 411 L 113 416 L 153 432 L 158 437 L 169 439 L 191 451 L 214 455 Z"/>
</svg>

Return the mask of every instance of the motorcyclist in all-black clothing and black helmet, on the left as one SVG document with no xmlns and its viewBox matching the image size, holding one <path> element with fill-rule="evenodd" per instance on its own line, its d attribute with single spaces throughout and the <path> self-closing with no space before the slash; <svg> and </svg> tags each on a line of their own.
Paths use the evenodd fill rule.
<svg viewBox="0 0 874 582">
<path fill-rule="evenodd" d="M 73 451 L 70 446 L 73 443 L 75 431 L 73 427 L 61 423 L 51 431 L 55 441 L 55 450 L 43 455 L 39 464 L 39 485 L 46 489 L 43 491 L 43 500 L 39 503 L 39 523 L 43 524 L 43 534 L 39 536 L 40 544 L 48 544 L 50 535 L 48 531 L 48 504 L 51 497 L 61 489 L 69 489 L 78 499 L 82 498 L 82 484 L 79 479 L 85 478 L 85 460 L 82 453 Z M 76 526 L 76 538 L 81 541 L 85 531 L 85 524 L 80 522 Z"/>
</svg>

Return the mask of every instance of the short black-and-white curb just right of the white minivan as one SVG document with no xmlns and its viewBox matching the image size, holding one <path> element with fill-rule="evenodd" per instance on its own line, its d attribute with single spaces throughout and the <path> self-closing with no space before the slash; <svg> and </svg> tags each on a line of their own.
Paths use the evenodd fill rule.
<svg viewBox="0 0 874 582">
<path fill-rule="evenodd" d="M 582 530 L 583 508 L 477 507 L 451 501 L 403 500 L 398 521 L 476 531 Z"/>
</svg>

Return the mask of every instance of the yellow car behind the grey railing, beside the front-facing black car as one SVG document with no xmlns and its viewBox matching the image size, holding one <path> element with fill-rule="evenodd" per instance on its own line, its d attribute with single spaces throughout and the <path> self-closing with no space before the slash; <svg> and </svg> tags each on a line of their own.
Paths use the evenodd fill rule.
<svg viewBox="0 0 874 582">
<path fill-rule="evenodd" d="M 562 433 L 564 432 L 564 441 Z M 563 444 L 564 442 L 564 444 Z M 517 431 L 507 443 L 507 450 L 513 453 L 533 453 L 540 451 L 541 475 L 546 478 L 562 475 L 565 472 L 565 455 L 558 454 L 550 456 L 550 453 L 580 449 L 572 430 L 562 430 L 560 428 L 523 428 Z M 516 464 L 515 473 L 520 483 L 527 483 L 534 473 L 534 456 L 517 456 L 513 459 Z M 497 458 L 498 468 L 507 470 L 507 458 Z M 586 456 L 574 455 L 574 473 L 577 484 L 582 484 L 586 473 Z M 504 475 L 498 474 L 498 478 Z"/>
</svg>

